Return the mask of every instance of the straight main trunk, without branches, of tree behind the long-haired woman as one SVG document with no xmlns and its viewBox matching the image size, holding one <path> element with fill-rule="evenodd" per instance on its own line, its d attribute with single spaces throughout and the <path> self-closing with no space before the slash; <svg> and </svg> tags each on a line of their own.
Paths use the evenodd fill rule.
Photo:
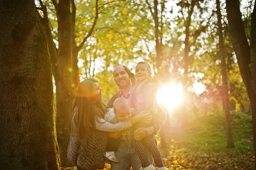
<svg viewBox="0 0 256 170">
<path fill-rule="evenodd" d="M 58 77 L 56 84 L 56 129 L 60 150 L 61 166 L 69 165 L 67 145 L 70 135 L 69 123 L 73 109 L 74 88 L 72 88 L 71 57 L 71 12 L 70 0 L 59 0 L 58 16 Z M 55 6 L 56 8 L 56 6 Z M 77 64 L 77 63 L 76 63 Z"/>
</svg>

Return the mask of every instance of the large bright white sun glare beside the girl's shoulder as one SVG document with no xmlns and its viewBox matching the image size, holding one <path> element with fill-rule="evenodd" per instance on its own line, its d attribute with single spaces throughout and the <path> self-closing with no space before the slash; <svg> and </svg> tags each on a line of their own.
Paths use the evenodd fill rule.
<svg viewBox="0 0 256 170">
<path fill-rule="evenodd" d="M 182 85 L 169 83 L 160 86 L 157 93 L 157 103 L 169 109 L 178 107 L 183 100 Z"/>
</svg>

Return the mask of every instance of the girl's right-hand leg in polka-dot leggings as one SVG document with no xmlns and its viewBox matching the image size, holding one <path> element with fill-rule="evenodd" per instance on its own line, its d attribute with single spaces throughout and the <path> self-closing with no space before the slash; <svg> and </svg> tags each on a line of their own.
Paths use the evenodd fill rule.
<svg viewBox="0 0 256 170">
<path fill-rule="evenodd" d="M 154 135 L 148 135 L 145 137 L 145 144 L 148 147 L 148 149 L 151 151 L 154 163 L 157 167 L 163 167 L 163 161 L 161 157 L 161 153 L 157 147 L 157 144 L 154 141 Z"/>
</svg>

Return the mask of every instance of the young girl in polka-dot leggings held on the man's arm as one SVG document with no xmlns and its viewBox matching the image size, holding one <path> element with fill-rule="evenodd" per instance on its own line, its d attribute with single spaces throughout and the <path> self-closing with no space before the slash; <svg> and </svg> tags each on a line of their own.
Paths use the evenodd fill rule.
<svg viewBox="0 0 256 170">
<path fill-rule="evenodd" d="M 132 90 L 132 107 L 138 112 L 148 110 L 153 115 L 151 123 L 145 124 L 139 122 L 135 124 L 134 129 L 136 130 L 139 127 L 150 127 L 154 123 L 154 116 L 157 113 L 156 95 L 158 89 L 158 81 L 151 77 L 151 67 L 144 61 L 137 63 L 135 68 L 135 76 L 137 78 L 137 84 L 133 87 Z M 160 151 L 157 147 L 157 144 L 155 143 L 154 134 L 147 135 L 145 138 L 143 138 L 142 141 L 137 141 L 132 138 L 132 144 L 134 145 L 142 164 L 140 170 L 154 170 L 154 167 L 148 161 L 148 157 L 146 155 L 145 147 L 143 144 L 145 144 L 151 151 L 155 165 L 160 170 L 166 170 L 163 165 Z"/>
</svg>

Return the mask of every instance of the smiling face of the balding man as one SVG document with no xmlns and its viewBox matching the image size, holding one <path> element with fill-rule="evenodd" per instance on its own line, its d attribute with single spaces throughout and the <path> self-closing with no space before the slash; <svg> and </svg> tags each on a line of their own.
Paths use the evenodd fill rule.
<svg viewBox="0 0 256 170">
<path fill-rule="evenodd" d="M 113 77 L 116 85 L 120 89 L 125 89 L 131 85 L 128 73 L 123 66 L 117 66 L 113 71 Z"/>
</svg>

